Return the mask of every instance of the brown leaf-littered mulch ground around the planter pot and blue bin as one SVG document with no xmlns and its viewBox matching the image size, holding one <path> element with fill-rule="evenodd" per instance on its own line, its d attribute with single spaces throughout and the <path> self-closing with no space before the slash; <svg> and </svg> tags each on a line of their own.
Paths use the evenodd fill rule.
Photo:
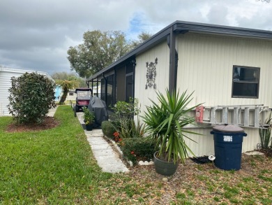
<svg viewBox="0 0 272 205">
<path fill-rule="evenodd" d="M 173 176 L 168 177 L 157 174 L 153 165 L 130 167 L 130 172 L 124 174 L 130 180 L 109 180 L 114 186 L 107 188 L 107 192 L 100 192 L 97 198 L 110 199 L 112 202 L 116 198 L 123 199 L 120 204 L 137 204 L 141 202 L 139 199 L 142 199 L 143 204 L 180 204 L 182 200 L 179 196 L 184 195 L 192 204 L 216 204 L 213 197 L 220 197 L 221 203 L 232 204 L 224 197 L 225 185 L 235 188 L 237 184 L 243 183 L 244 178 L 254 178 L 259 187 L 262 187 L 263 181 L 258 178 L 259 174 L 262 170 L 272 169 L 271 159 L 268 157 L 260 156 L 261 160 L 255 160 L 255 164 L 252 164 L 252 159 L 255 157 L 242 155 L 241 169 L 234 172 L 218 169 L 213 163 L 197 164 L 188 159 L 185 164 L 179 164 Z M 211 188 L 214 190 L 209 190 Z M 243 201 L 247 196 L 254 196 L 255 189 L 252 187 L 252 192 L 240 192 L 236 199 Z M 133 191 L 131 197 L 128 192 L 130 190 Z M 114 195 L 109 194 L 111 192 Z"/>
</svg>

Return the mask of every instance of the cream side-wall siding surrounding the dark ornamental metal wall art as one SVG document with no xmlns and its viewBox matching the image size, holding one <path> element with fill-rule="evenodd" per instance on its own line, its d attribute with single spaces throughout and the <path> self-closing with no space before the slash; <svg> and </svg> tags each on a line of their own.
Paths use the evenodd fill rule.
<svg viewBox="0 0 272 205">
<path fill-rule="evenodd" d="M 155 62 L 156 65 L 156 80 L 157 89 L 146 87 L 146 62 Z M 164 41 L 136 57 L 135 66 L 135 98 L 139 99 L 142 114 L 144 114 L 145 106 L 150 105 L 150 99 L 156 101 L 156 91 L 165 93 L 165 89 L 169 85 L 169 48 L 167 42 Z"/>
</svg>

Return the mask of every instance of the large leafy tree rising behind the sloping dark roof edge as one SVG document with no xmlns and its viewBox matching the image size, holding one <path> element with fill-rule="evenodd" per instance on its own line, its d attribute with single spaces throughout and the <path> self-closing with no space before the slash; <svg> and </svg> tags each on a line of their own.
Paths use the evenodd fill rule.
<svg viewBox="0 0 272 205">
<path fill-rule="evenodd" d="M 84 43 L 70 46 L 67 52 L 71 69 L 82 78 L 104 69 L 130 50 L 125 37 L 121 31 L 86 31 Z"/>
</svg>

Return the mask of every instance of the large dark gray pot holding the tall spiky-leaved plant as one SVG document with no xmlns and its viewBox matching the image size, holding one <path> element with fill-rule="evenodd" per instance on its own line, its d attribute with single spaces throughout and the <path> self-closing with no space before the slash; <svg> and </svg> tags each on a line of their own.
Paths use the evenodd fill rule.
<svg viewBox="0 0 272 205">
<path fill-rule="evenodd" d="M 156 172 L 164 176 L 171 176 L 175 174 L 176 169 L 179 166 L 179 163 L 176 162 L 176 164 L 174 164 L 174 162 L 165 162 L 163 160 L 160 160 L 156 157 L 157 153 L 158 152 L 154 153 L 153 160 Z"/>
</svg>

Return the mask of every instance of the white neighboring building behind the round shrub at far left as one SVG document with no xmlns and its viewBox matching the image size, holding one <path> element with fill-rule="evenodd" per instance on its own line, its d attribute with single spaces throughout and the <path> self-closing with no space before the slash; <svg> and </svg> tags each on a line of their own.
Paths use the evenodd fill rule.
<svg viewBox="0 0 272 205">
<path fill-rule="evenodd" d="M 22 76 L 24 73 L 33 73 L 36 72 L 38 74 L 42 74 L 53 80 L 51 76 L 49 76 L 45 72 L 40 71 L 29 71 L 29 70 L 20 70 L 20 69 L 9 69 L 9 68 L 0 68 L 0 116 L 3 115 L 10 115 L 8 111 L 8 96 L 9 92 L 8 89 L 11 87 L 11 80 L 10 78 L 15 76 L 19 77 Z M 54 81 L 54 80 L 53 80 Z"/>
</svg>

